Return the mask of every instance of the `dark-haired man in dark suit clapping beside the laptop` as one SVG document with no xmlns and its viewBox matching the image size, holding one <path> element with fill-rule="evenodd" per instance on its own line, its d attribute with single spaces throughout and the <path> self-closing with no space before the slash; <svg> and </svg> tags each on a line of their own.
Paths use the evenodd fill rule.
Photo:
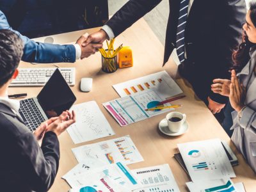
<svg viewBox="0 0 256 192">
<path fill-rule="evenodd" d="M 76 120 L 75 113 L 64 111 L 30 132 L 19 116 L 19 100 L 6 93 L 23 53 L 23 42 L 8 29 L 0 30 L 0 191 L 45 192 L 58 171 L 58 136 Z"/>
</svg>

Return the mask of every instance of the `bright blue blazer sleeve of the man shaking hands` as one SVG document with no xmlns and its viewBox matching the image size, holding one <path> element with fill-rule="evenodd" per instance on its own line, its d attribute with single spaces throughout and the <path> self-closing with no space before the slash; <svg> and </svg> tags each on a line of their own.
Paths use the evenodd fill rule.
<svg viewBox="0 0 256 192">
<path fill-rule="evenodd" d="M 75 62 L 76 48 L 74 45 L 54 45 L 35 42 L 18 31 L 13 30 L 4 15 L 0 11 L 0 29 L 10 29 L 15 32 L 24 42 L 22 61 L 35 63 L 60 63 Z"/>
</svg>

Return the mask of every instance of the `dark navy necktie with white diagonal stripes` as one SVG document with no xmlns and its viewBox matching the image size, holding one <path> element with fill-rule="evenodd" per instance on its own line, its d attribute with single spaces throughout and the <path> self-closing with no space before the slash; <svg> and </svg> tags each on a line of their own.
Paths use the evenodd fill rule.
<svg viewBox="0 0 256 192">
<path fill-rule="evenodd" d="M 188 3 L 189 0 L 180 0 L 180 12 L 179 20 L 177 26 L 177 35 L 176 35 L 176 50 L 179 57 L 180 63 L 185 60 L 185 28 L 188 18 Z"/>
</svg>

